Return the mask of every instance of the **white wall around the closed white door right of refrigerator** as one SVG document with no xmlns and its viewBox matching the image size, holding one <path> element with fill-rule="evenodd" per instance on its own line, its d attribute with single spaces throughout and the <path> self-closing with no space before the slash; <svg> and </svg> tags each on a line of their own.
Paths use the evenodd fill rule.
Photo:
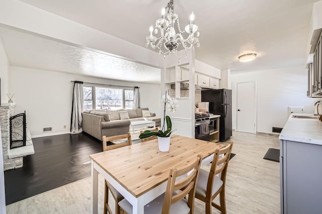
<svg viewBox="0 0 322 214">
<path fill-rule="evenodd" d="M 272 133 L 283 127 L 288 106 L 304 106 L 304 113 L 314 113 L 319 98 L 307 98 L 307 70 L 304 66 L 232 74 L 232 126 L 236 128 L 236 83 L 257 81 L 257 132 Z"/>
</svg>

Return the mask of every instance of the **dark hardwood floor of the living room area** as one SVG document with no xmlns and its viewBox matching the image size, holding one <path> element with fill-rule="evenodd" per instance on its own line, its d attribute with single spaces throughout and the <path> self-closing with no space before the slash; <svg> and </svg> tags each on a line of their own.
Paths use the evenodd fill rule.
<svg viewBox="0 0 322 214">
<path fill-rule="evenodd" d="M 22 168 L 5 171 L 6 204 L 91 176 L 90 154 L 102 143 L 85 133 L 32 139 L 35 154 Z"/>
</svg>

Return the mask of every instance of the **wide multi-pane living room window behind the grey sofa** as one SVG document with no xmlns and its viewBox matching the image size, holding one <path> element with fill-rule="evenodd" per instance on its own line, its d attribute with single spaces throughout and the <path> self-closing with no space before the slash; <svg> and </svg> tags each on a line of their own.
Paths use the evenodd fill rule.
<svg viewBox="0 0 322 214">
<path fill-rule="evenodd" d="M 84 109 L 132 109 L 133 95 L 130 89 L 84 86 Z"/>
</svg>

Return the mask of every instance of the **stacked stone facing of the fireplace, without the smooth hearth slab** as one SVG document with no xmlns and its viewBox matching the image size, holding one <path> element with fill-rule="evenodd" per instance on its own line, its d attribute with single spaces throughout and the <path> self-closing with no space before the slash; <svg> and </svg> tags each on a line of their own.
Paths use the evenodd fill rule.
<svg viewBox="0 0 322 214">
<path fill-rule="evenodd" d="M 0 106 L 0 126 L 2 135 L 2 149 L 4 156 L 4 170 L 22 167 L 23 157 L 9 158 L 10 150 L 10 122 L 9 118 L 15 114 L 15 103 L 2 103 Z"/>
</svg>

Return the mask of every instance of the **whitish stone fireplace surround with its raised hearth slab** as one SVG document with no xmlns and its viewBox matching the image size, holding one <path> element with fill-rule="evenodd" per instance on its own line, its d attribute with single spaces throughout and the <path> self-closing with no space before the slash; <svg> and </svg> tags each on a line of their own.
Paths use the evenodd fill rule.
<svg viewBox="0 0 322 214">
<path fill-rule="evenodd" d="M 34 154 L 31 136 L 27 130 L 26 146 L 10 149 L 10 117 L 15 114 L 15 103 L 2 103 L 0 106 L 0 126 L 2 134 L 2 148 L 4 157 L 4 170 L 20 168 L 23 166 L 23 157 Z"/>
</svg>

